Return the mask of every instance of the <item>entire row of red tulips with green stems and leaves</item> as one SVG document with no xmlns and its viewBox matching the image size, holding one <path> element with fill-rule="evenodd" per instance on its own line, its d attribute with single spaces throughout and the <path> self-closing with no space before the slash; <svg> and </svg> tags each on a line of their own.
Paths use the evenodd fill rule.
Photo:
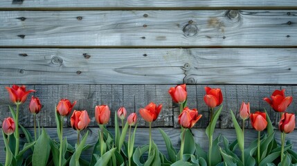
<svg viewBox="0 0 297 166">
<path fill-rule="evenodd" d="M 229 143 L 224 136 L 218 136 L 213 140 L 215 125 L 222 111 L 223 95 L 221 89 L 211 89 L 205 87 L 206 95 L 204 102 L 210 108 L 210 123 L 206 128 L 208 136 L 208 153 L 206 153 L 198 143 L 194 141 L 190 129 L 201 118 L 197 109 L 187 107 L 186 84 L 171 87 L 168 93 L 172 100 L 179 104 L 180 114 L 178 117 L 181 125 L 181 147 L 177 152 L 172 147 L 172 142 L 167 134 L 160 129 L 168 149 L 168 156 L 161 154 L 152 139 L 152 122 L 157 120 L 163 107 L 162 104 L 156 105 L 154 102 L 147 104 L 145 108 L 139 109 L 141 117 L 150 125 L 150 142 L 143 147 L 134 147 L 134 138 L 137 127 L 137 114 L 131 113 L 127 117 L 125 107 L 120 107 L 115 113 L 115 136 L 105 127 L 109 122 L 111 111 L 107 105 L 95 107 L 95 120 L 100 127 L 100 133 L 96 145 L 93 146 L 91 162 L 80 158 L 80 154 L 85 149 L 90 148 L 85 145 L 88 132 L 80 139 L 80 131 L 86 129 L 91 121 L 86 110 L 74 110 L 71 116 L 71 127 L 78 132 L 78 142 L 72 147 L 66 138 L 63 138 L 63 119 L 71 114 L 76 102 L 71 103 L 67 99 L 62 99 L 57 104 L 55 120 L 57 123 L 57 136 L 59 142 L 52 140 L 43 130 L 37 136 L 36 114 L 42 109 L 39 98 L 32 96 L 29 103 L 29 111 L 34 117 L 34 139 L 30 133 L 19 124 L 19 105 L 26 102 L 29 93 L 35 90 L 26 91 L 26 86 L 13 85 L 6 87 L 10 100 L 15 104 L 15 108 L 9 107 L 12 118 L 3 120 L 2 130 L 6 145 L 5 165 L 292 165 L 297 163 L 297 154 L 293 151 L 290 142 L 285 142 L 285 134 L 290 133 L 295 128 L 295 115 L 287 113 L 287 107 L 292 102 L 291 96 L 285 96 L 285 89 L 276 90 L 271 98 L 264 98 L 274 111 L 280 113 L 279 129 L 281 132 L 280 145 L 274 138 L 272 124 L 266 112 L 250 112 L 250 104 L 242 102 L 240 107 L 240 118 L 242 118 L 242 128 L 238 124 L 233 111 L 231 116 L 237 140 Z M 220 106 L 220 107 L 219 107 Z M 219 107 L 215 110 L 216 107 Z M 124 123 L 125 118 L 126 122 Z M 252 142 L 248 148 L 244 147 L 244 124 L 245 120 L 251 119 L 253 128 L 258 131 L 258 140 Z M 122 129 L 118 125 L 118 119 L 122 123 Z M 39 125 L 38 125 L 39 126 Z M 132 127 L 134 131 L 132 132 Z M 27 143 L 21 151 L 19 150 L 19 128 L 25 133 Z M 261 137 L 261 131 L 267 129 Z M 128 139 L 125 141 L 127 132 Z M 14 134 L 12 134 L 14 133 Z M 187 142 L 187 143 L 185 143 Z M 224 146 L 222 146 L 222 143 Z M 235 153 L 236 147 L 241 151 L 241 159 Z M 24 152 L 31 149 L 33 153 L 24 158 Z M 46 151 L 46 153 L 44 153 Z M 144 157 L 145 154 L 147 158 Z M 50 158 L 51 157 L 51 158 Z"/>
</svg>

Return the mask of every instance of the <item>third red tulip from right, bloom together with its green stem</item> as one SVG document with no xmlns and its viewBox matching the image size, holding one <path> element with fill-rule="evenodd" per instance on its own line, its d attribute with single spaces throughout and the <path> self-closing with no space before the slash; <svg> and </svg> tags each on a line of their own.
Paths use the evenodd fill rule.
<svg viewBox="0 0 297 166">
<path fill-rule="evenodd" d="M 251 125 L 258 131 L 258 165 L 260 164 L 260 133 L 267 127 L 266 113 L 256 111 L 251 113 Z"/>
</svg>

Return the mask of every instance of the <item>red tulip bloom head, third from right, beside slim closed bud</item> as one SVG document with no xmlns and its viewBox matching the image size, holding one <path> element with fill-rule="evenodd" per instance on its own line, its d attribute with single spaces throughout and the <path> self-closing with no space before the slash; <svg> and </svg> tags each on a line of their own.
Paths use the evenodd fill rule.
<svg viewBox="0 0 297 166">
<path fill-rule="evenodd" d="M 256 111 L 251 113 L 251 125 L 257 131 L 263 131 L 267 127 L 266 113 Z"/>
</svg>

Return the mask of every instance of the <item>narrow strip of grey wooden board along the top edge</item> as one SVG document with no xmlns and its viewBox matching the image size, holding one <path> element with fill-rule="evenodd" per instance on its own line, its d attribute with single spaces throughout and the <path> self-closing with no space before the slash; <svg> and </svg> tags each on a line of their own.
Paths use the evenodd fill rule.
<svg viewBox="0 0 297 166">
<path fill-rule="evenodd" d="M 265 1 L 265 0 L 243 0 L 234 1 L 228 0 L 209 0 L 209 1 L 195 1 L 195 0 L 30 0 L 30 1 L 17 1 L 17 0 L 2 0 L 0 1 L 0 8 L 293 8 L 297 6 L 294 0 L 285 1 Z"/>
</svg>

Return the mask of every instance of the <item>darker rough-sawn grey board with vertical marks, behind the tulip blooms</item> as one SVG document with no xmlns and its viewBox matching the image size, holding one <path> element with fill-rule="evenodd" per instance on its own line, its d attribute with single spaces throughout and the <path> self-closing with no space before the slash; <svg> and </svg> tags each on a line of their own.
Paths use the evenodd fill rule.
<svg viewBox="0 0 297 166">
<path fill-rule="evenodd" d="M 8 105 L 13 104 L 9 100 L 8 93 L 0 86 L 0 125 L 2 120 L 10 115 Z M 27 85 L 27 89 L 35 89 L 33 93 L 39 97 L 43 104 L 42 111 L 37 115 L 42 127 L 55 127 L 55 106 L 62 98 L 77 101 L 74 109 L 87 110 L 91 118 L 90 127 L 97 127 L 94 118 L 94 108 L 99 104 L 107 104 L 111 109 L 109 126 L 114 126 L 114 114 L 119 107 L 125 107 L 128 114 L 136 112 L 138 115 L 138 126 L 147 127 L 148 124 L 141 118 L 138 110 L 145 107 L 150 102 L 163 104 L 163 109 L 159 118 L 152 123 L 154 127 L 179 127 L 179 105 L 172 103 L 172 98 L 168 94 L 168 89 L 172 84 L 165 85 L 89 85 L 89 84 L 70 84 L 70 85 Z M 204 103 L 204 87 L 220 88 L 224 96 L 223 110 L 219 117 L 217 127 L 233 128 L 231 123 L 232 110 L 237 120 L 240 122 L 239 109 L 242 102 L 251 103 L 251 112 L 267 110 L 273 126 L 278 128 L 279 113 L 271 109 L 263 98 L 269 97 L 276 89 L 286 89 L 285 94 L 297 98 L 297 86 L 258 86 L 258 85 L 187 85 L 188 107 L 197 108 L 202 118 L 195 127 L 206 128 L 209 123 L 208 107 Z M 30 95 L 29 95 L 30 96 Z M 33 115 L 28 111 L 28 103 L 25 102 L 20 109 L 20 124 L 25 127 L 33 127 Z M 297 100 L 294 100 L 287 111 L 296 113 Z M 251 128 L 249 120 L 246 126 Z M 64 119 L 64 127 L 71 127 L 69 117 Z"/>
</svg>

